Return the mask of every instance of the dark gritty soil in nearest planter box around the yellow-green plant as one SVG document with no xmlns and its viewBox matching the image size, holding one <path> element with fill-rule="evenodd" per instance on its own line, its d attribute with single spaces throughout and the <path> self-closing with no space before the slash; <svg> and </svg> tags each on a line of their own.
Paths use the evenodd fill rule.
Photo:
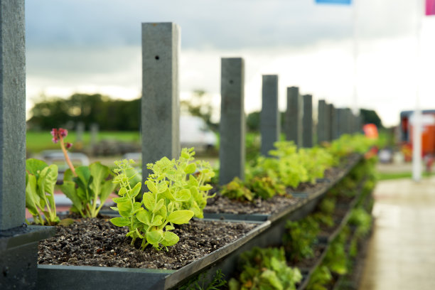
<svg viewBox="0 0 435 290">
<path fill-rule="evenodd" d="M 78 219 L 56 227 L 54 237 L 42 240 L 38 264 L 81 265 L 151 269 L 180 269 L 245 235 L 256 225 L 245 222 L 190 220 L 174 233 L 180 240 L 160 251 L 130 246 L 127 227 L 116 227 L 107 218 Z M 136 241 L 140 245 L 139 239 Z"/>
</svg>

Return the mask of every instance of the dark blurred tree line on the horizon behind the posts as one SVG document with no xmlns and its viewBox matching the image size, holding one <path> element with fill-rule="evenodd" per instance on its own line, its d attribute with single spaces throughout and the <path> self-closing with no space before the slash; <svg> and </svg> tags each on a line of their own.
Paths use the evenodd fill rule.
<svg viewBox="0 0 435 290">
<path fill-rule="evenodd" d="M 193 116 L 204 119 L 210 129 L 217 130 L 218 124 L 211 122 L 212 107 L 203 90 L 193 92 L 191 100 L 181 102 L 181 109 Z M 363 124 L 373 123 L 382 128 L 377 113 L 370 109 L 360 109 Z M 66 100 L 60 97 L 46 98 L 37 102 L 31 109 L 28 129 L 49 130 L 53 127 L 74 129 L 78 122 L 90 129 L 98 124 L 104 131 L 137 131 L 141 122 L 141 99 L 113 100 L 110 97 L 94 94 L 74 94 Z M 260 113 L 247 114 L 247 129 L 259 131 Z M 281 128 L 284 127 L 284 112 L 281 112 Z"/>
</svg>

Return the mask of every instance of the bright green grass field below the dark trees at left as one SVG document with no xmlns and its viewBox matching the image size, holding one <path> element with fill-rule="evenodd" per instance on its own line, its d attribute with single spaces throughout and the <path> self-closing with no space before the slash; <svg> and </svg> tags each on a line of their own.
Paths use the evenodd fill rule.
<svg viewBox="0 0 435 290">
<path fill-rule="evenodd" d="M 51 141 L 52 136 L 50 131 L 27 131 L 26 133 L 26 149 L 27 151 L 38 154 L 44 150 L 55 149 L 59 150 L 59 144 L 54 144 Z M 78 144 L 77 135 L 75 131 L 69 131 L 65 141 L 74 144 L 74 148 L 80 149 L 80 147 L 90 145 L 91 136 L 89 132 L 83 134 L 82 144 Z M 124 142 L 137 142 L 139 144 L 140 134 L 139 131 L 100 131 L 98 132 L 97 141 L 103 139 L 111 139 Z"/>
</svg>

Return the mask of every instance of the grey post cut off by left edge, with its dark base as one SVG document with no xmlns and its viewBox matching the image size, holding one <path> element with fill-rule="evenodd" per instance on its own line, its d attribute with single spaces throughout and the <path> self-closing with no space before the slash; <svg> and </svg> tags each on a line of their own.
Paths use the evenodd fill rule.
<svg viewBox="0 0 435 290">
<path fill-rule="evenodd" d="M 24 1 L 0 0 L 0 289 L 35 289 L 38 241 L 53 227 L 23 226 L 26 208 Z"/>
</svg>

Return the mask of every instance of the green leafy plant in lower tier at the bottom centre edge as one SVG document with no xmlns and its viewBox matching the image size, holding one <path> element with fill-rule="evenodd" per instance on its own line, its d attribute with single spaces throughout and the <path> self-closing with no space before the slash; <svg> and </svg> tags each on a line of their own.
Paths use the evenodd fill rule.
<svg viewBox="0 0 435 290">
<path fill-rule="evenodd" d="M 242 273 L 228 282 L 230 290 L 296 289 L 302 279 L 297 268 L 287 266 L 284 248 L 254 247 L 240 255 Z"/>
</svg>

